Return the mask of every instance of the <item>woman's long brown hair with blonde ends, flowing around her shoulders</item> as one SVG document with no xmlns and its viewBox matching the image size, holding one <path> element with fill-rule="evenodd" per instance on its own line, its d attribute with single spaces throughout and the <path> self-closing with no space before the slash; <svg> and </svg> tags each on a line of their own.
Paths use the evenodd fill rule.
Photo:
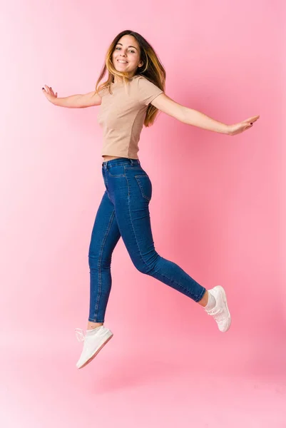
<svg viewBox="0 0 286 428">
<path fill-rule="evenodd" d="M 140 52 L 141 52 L 140 59 L 141 61 L 143 61 L 143 66 L 137 68 L 136 75 L 144 76 L 150 82 L 154 83 L 156 86 L 158 86 L 158 88 L 160 88 L 162 91 L 165 92 L 165 78 L 166 78 L 165 68 L 160 62 L 160 59 L 158 58 L 158 55 L 155 53 L 153 47 L 148 43 L 148 41 L 144 39 L 143 36 L 141 36 L 141 34 L 136 33 L 136 31 L 125 30 L 125 31 L 121 31 L 121 33 L 119 33 L 115 37 L 115 39 L 113 39 L 111 45 L 109 46 L 106 52 L 105 63 L 102 68 L 101 75 L 99 76 L 98 81 L 96 82 L 96 93 L 98 93 L 98 91 L 101 91 L 104 88 L 108 88 L 109 93 L 112 93 L 111 83 L 114 82 L 115 76 L 121 77 L 123 79 L 124 85 L 128 83 L 128 73 L 126 71 L 116 70 L 112 62 L 112 54 L 114 49 L 116 48 L 116 44 L 118 43 L 118 40 L 121 39 L 121 37 L 125 36 L 126 34 L 135 37 L 140 47 Z M 103 76 L 105 75 L 106 70 L 108 71 L 108 78 L 104 83 L 101 83 L 101 85 L 98 87 L 98 84 L 103 78 Z M 144 125 L 145 126 L 153 125 L 157 114 L 158 114 L 158 108 L 155 108 L 154 106 L 152 106 L 152 104 L 149 104 L 146 111 L 145 119 L 144 119 Z"/>
</svg>

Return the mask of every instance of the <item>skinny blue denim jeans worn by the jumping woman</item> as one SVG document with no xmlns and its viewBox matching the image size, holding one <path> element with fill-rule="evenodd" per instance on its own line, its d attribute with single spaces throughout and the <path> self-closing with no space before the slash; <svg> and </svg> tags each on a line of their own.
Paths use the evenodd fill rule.
<svg viewBox="0 0 286 428">
<path fill-rule="evenodd" d="M 135 267 L 198 302 L 205 287 L 155 250 L 150 225 L 152 184 L 138 159 L 102 163 L 106 190 L 96 213 L 88 251 L 90 309 L 88 321 L 104 322 L 111 292 L 111 255 L 122 236 Z"/>
</svg>

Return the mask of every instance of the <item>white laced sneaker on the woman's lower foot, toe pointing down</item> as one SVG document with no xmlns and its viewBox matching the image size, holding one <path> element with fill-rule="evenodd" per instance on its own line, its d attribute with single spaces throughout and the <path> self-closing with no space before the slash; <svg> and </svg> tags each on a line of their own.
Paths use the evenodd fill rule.
<svg viewBox="0 0 286 428">
<path fill-rule="evenodd" d="M 76 367 L 81 369 L 87 365 L 88 362 L 91 362 L 103 346 L 111 340 L 113 332 L 103 325 L 93 330 L 86 330 L 86 334 L 84 334 L 81 328 L 76 328 L 75 331 L 78 342 L 83 342 L 81 357 L 79 357 L 79 360 L 76 363 Z"/>
</svg>

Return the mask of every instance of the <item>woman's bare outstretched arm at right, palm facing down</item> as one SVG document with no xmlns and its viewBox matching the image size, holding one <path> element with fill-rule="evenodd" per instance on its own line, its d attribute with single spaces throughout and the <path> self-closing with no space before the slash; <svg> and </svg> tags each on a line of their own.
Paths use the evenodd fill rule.
<svg viewBox="0 0 286 428">
<path fill-rule="evenodd" d="M 238 133 L 246 131 L 248 128 L 252 128 L 252 123 L 257 121 L 260 116 L 253 116 L 252 118 L 245 119 L 240 123 L 234 125 L 226 125 L 225 123 L 215 121 L 215 119 L 206 116 L 200 111 L 193 110 L 176 103 L 174 100 L 169 98 L 165 93 L 160 93 L 151 102 L 152 106 L 158 108 L 158 110 L 167 113 L 178 121 L 187 123 L 188 125 L 198 126 L 198 128 L 206 129 L 207 131 L 213 131 L 218 133 L 224 133 L 229 136 L 234 136 Z"/>
</svg>

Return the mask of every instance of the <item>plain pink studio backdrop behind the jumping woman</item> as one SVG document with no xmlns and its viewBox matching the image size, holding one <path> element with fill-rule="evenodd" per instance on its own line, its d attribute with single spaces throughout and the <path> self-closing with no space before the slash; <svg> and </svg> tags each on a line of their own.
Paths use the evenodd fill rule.
<svg viewBox="0 0 286 428">
<path fill-rule="evenodd" d="M 285 2 L 10 1 L 0 20 L 1 427 L 285 428 Z M 123 29 L 153 45 L 178 103 L 260 114 L 230 137 L 160 113 L 138 153 L 156 250 L 223 285 L 233 325 L 138 272 L 121 239 L 114 337 L 78 370 L 101 129 L 97 106 L 58 108 L 41 88 L 92 91 Z"/>
</svg>

